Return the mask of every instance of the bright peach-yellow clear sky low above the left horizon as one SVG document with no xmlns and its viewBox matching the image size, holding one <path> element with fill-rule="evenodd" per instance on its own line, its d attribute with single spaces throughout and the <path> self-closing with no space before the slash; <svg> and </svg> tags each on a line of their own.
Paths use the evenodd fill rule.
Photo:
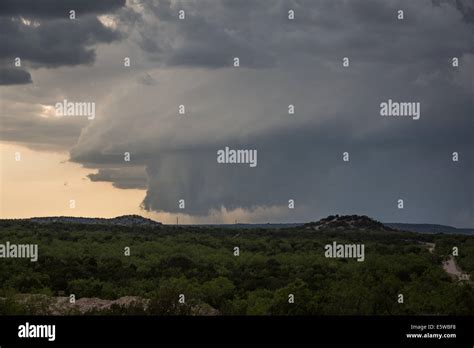
<svg viewBox="0 0 474 348">
<path fill-rule="evenodd" d="M 20 161 L 15 159 L 16 152 Z M 139 206 L 145 190 L 120 190 L 109 182 L 91 182 L 87 175 L 95 170 L 68 162 L 67 152 L 0 143 L 0 157 L 2 218 L 143 215 Z M 76 201 L 73 209 L 71 199 Z"/>
</svg>

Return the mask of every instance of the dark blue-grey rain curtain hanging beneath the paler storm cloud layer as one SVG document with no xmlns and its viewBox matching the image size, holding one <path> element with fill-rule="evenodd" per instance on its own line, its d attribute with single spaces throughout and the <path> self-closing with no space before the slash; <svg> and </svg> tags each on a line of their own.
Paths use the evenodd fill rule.
<svg viewBox="0 0 474 348">
<path fill-rule="evenodd" d="M 472 197 L 472 121 L 468 110 L 440 110 L 458 111 L 465 113 L 450 125 L 441 120 L 430 122 L 438 123 L 433 127 L 390 125 L 364 138 L 338 118 L 165 153 L 148 160 L 143 206 L 179 213 L 177 201 L 183 198 L 187 213 L 205 215 L 220 206 L 252 209 L 295 199 L 298 205 L 313 207 L 313 216 L 306 219 L 343 212 L 395 221 L 406 219 L 396 209 L 397 199 L 403 198 L 423 221 L 431 221 L 433 212 L 445 215 L 454 206 L 461 212 L 469 209 Z M 257 149 L 258 166 L 217 164 L 216 150 L 225 146 Z M 350 163 L 342 162 L 345 151 Z M 452 151 L 463 154 L 462 163 L 451 162 Z M 423 199 L 427 192 L 437 199 Z M 385 202 L 384 207 L 375 202 Z"/>
</svg>

